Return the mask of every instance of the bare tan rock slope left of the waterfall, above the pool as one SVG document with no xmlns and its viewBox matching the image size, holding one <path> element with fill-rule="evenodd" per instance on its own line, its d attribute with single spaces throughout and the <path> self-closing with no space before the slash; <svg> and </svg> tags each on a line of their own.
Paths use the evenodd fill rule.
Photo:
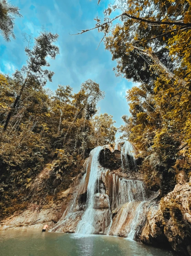
<svg viewBox="0 0 191 256">
<path fill-rule="evenodd" d="M 47 168 L 43 169 L 40 173 L 39 176 L 41 178 L 47 177 L 47 174 L 44 175 L 45 171 L 47 173 Z M 81 174 L 73 180 L 73 183 L 67 190 L 61 191 L 57 195 L 56 200 L 52 199 L 47 204 L 43 205 L 31 203 L 25 211 L 16 211 L 10 217 L 0 221 L 0 230 L 12 228 L 42 229 L 44 224 L 48 224 L 49 227 L 53 227 L 60 220 L 64 211 L 66 211 L 73 194 L 76 192 L 80 178 Z M 33 181 L 32 185 L 33 184 L 37 185 L 37 179 Z M 36 187 L 37 191 L 40 189 L 40 186 L 41 182 L 38 182 L 38 187 Z M 32 193 L 32 191 L 30 190 L 29 193 Z M 46 200 L 45 198 L 42 199 Z"/>
</svg>

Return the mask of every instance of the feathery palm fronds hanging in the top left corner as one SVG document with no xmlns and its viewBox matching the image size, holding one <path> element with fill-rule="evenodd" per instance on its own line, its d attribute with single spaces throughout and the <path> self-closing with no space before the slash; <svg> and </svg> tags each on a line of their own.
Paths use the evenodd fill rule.
<svg viewBox="0 0 191 256">
<path fill-rule="evenodd" d="M 22 17 L 20 9 L 13 6 L 7 0 L 0 0 L 0 30 L 6 42 L 10 42 L 10 36 L 16 38 L 13 32 L 15 17 Z"/>
</svg>

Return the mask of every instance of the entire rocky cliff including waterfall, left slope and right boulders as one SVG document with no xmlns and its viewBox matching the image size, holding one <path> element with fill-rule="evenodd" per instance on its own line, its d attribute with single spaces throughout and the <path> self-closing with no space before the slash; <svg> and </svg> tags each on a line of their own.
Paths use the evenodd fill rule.
<svg viewBox="0 0 191 256">
<path fill-rule="evenodd" d="M 94 150 L 82 173 L 56 200 L 42 207 L 31 204 L 1 221 L 0 229 L 42 228 L 47 223 L 55 232 L 127 237 L 191 255 L 191 183 L 180 173 L 173 191 L 161 198 L 146 188 L 133 162 L 125 171 L 128 161 L 122 147 Z M 131 151 L 126 159 L 130 157 Z M 37 180 L 31 187 L 34 183 Z"/>
</svg>

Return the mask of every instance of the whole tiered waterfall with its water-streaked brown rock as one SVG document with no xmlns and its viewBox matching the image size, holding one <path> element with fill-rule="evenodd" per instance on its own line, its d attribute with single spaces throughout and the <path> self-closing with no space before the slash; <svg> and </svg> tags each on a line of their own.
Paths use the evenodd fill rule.
<svg viewBox="0 0 191 256">
<path fill-rule="evenodd" d="M 73 200 L 51 231 L 108 234 L 129 239 L 134 239 L 135 234 L 137 236 L 140 223 L 144 222 L 147 203 L 154 195 L 142 181 L 125 178 L 124 172 L 115 174 L 103 168 L 99 158 L 103 152 L 104 161 L 107 161 L 106 149 L 111 153 L 121 150 L 122 167 L 123 160 L 127 167 L 130 160 L 130 166 L 136 170 L 136 150 L 129 141 L 120 141 L 113 147 L 94 148 L 84 164 L 85 174 L 73 194 Z M 131 173 L 130 168 L 128 173 Z"/>
</svg>

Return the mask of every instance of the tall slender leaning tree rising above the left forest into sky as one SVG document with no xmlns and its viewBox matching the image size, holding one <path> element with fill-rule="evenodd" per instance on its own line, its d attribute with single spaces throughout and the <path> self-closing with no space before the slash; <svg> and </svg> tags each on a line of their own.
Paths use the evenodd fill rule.
<svg viewBox="0 0 191 256">
<path fill-rule="evenodd" d="M 9 120 L 18 105 L 24 89 L 31 87 L 34 83 L 36 86 L 41 87 L 46 85 L 47 80 L 52 81 L 54 72 L 43 69 L 42 67 L 50 67 L 49 62 L 46 60 L 47 56 L 50 56 L 51 59 L 55 59 L 56 55 L 59 54 L 58 46 L 53 44 L 57 39 L 58 34 L 52 34 L 46 31 L 40 32 L 40 35 L 35 38 L 34 46 L 31 49 L 31 37 L 29 37 L 28 47 L 25 47 L 25 52 L 28 55 L 27 65 L 24 65 L 21 71 L 16 70 L 13 74 L 16 85 L 20 90 L 7 115 L 4 123 L 4 131 L 7 130 Z"/>
</svg>

